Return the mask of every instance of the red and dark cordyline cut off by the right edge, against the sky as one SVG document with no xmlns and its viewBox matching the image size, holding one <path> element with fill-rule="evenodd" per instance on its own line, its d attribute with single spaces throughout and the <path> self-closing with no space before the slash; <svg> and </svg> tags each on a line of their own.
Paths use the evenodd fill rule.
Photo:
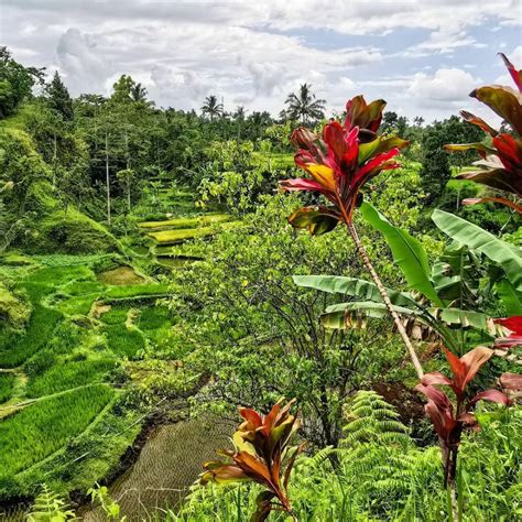
<svg viewBox="0 0 522 522">
<path fill-rule="evenodd" d="M 483 167 L 477 172 L 460 174 L 459 180 L 469 180 L 481 183 L 497 191 L 522 197 L 522 70 L 500 53 L 508 70 L 513 78 L 516 90 L 502 85 L 489 85 L 475 89 L 469 96 L 478 99 L 490 107 L 512 129 L 512 134 L 499 132 L 490 127 L 481 118 L 465 110 L 460 111 L 463 118 L 472 123 L 491 137 L 491 144 L 465 143 L 445 145 L 448 151 L 467 151 L 475 149 L 482 160 L 475 164 Z M 465 199 L 465 205 L 476 203 L 496 202 L 508 205 L 518 213 L 522 213 L 522 206 L 505 197 L 485 197 Z"/>
</svg>

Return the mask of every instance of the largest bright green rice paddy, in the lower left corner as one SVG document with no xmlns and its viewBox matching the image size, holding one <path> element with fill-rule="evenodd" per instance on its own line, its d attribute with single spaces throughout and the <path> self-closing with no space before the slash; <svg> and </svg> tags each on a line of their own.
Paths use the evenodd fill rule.
<svg viewBox="0 0 522 522">
<path fill-rule="evenodd" d="M 95 385 L 42 400 L 0 422 L 0 477 L 12 477 L 79 435 L 112 398 Z"/>
</svg>

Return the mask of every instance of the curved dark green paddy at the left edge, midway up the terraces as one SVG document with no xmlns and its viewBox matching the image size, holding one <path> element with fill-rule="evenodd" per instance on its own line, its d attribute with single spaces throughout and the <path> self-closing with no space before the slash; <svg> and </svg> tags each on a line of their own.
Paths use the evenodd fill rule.
<svg viewBox="0 0 522 522">
<path fill-rule="evenodd" d="M 62 318 L 58 311 L 36 304 L 23 335 L 8 334 L 0 337 L 0 367 L 15 368 L 25 362 L 52 338 Z"/>
</svg>

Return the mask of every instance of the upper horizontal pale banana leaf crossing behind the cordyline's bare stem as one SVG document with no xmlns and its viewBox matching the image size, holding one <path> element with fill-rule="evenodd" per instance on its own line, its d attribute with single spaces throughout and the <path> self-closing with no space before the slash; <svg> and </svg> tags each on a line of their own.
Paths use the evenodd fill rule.
<svg viewBox="0 0 522 522">
<path fill-rule="evenodd" d="M 357 297 L 360 301 L 382 303 L 379 290 L 373 283 L 357 278 L 341 275 L 293 275 L 297 286 L 319 290 L 329 294 L 342 294 Z M 415 300 L 405 292 L 387 289 L 392 304 L 398 306 L 418 306 Z"/>
</svg>

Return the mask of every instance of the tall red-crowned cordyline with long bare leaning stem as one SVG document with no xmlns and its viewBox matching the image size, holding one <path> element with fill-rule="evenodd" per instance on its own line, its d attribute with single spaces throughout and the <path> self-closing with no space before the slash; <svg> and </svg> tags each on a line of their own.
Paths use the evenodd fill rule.
<svg viewBox="0 0 522 522">
<path fill-rule="evenodd" d="M 303 127 L 296 129 L 291 138 L 298 148 L 295 163 L 311 178 L 285 180 L 281 187 L 287 192 L 319 193 L 329 202 L 329 205 L 300 208 L 289 220 L 293 227 L 307 228 L 315 236 L 329 232 L 339 222 L 347 227 L 422 378 L 415 349 L 354 226 L 354 211 L 362 200 L 361 188 L 382 171 L 398 168 L 400 165 L 394 157 L 409 144 L 401 138 L 378 135 L 384 106 L 384 100 L 367 104 L 362 96 L 357 96 L 346 105 L 344 124 L 327 123 L 322 137 Z"/>
</svg>

